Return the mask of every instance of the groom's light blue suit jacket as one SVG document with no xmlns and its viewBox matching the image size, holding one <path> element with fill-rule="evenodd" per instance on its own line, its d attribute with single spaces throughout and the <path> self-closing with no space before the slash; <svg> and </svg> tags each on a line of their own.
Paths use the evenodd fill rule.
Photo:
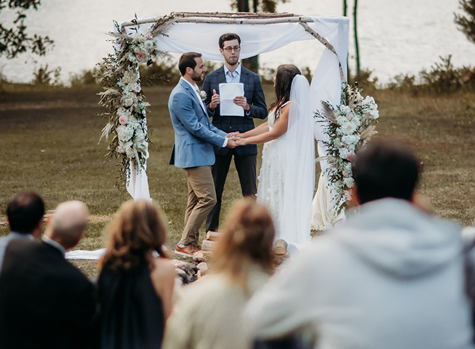
<svg viewBox="0 0 475 349">
<path fill-rule="evenodd" d="M 170 165 L 177 168 L 213 165 L 213 147 L 223 146 L 226 132 L 210 123 L 206 110 L 186 81 L 180 79 L 173 89 L 168 110 L 175 130 Z"/>
</svg>

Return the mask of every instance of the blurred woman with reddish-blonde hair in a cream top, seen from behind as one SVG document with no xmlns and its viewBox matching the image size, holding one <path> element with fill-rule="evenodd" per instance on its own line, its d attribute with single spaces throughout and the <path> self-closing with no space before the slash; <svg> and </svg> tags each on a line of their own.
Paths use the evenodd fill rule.
<svg viewBox="0 0 475 349">
<path fill-rule="evenodd" d="M 212 274 L 184 288 L 168 320 L 163 348 L 251 346 L 242 310 L 272 273 L 274 225 L 268 210 L 251 198 L 230 212 L 213 251 Z"/>
</svg>

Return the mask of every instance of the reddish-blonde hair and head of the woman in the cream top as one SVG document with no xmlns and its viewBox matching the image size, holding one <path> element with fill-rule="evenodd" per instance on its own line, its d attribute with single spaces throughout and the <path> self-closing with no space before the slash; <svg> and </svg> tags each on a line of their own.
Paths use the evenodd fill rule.
<svg viewBox="0 0 475 349">
<path fill-rule="evenodd" d="M 252 198 L 240 200 L 231 208 L 214 249 L 214 272 L 228 274 L 243 287 L 252 263 L 272 273 L 274 236 L 268 209 Z"/>
</svg>

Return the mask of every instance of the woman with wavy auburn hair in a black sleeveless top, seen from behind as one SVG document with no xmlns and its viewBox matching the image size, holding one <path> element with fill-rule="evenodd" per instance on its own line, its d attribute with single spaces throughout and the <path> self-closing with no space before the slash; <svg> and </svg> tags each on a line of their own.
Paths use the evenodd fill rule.
<svg viewBox="0 0 475 349">
<path fill-rule="evenodd" d="M 163 251 L 166 235 L 151 202 L 125 202 L 117 211 L 99 265 L 100 348 L 161 348 L 176 276 Z"/>
</svg>

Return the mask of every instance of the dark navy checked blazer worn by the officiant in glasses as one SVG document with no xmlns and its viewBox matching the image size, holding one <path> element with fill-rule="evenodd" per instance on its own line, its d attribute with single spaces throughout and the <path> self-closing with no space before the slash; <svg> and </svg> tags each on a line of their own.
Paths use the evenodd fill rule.
<svg viewBox="0 0 475 349">
<path fill-rule="evenodd" d="M 213 89 L 215 89 L 217 94 L 219 94 L 219 84 L 226 83 L 226 75 L 224 73 L 223 66 L 206 75 L 205 82 L 203 82 L 203 91 L 206 92 L 205 105 L 207 107 L 208 114 L 213 118 L 212 124 L 226 133 L 236 131 L 244 133 L 246 131 L 252 130 L 254 128 L 254 120 L 252 119 L 253 117 L 257 119 L 265 119 L 265 117 L 268 115 L 259 75 L 251 72 L 249 69 L 244 68 L 244 66 L 241 66 L 240 82 L 244 84 L 244 97 L 247 98 L 247 103 L 249 103 L 250 106 L 249 115 L 246 115 L 244 112 L 244 117 L 221 116 L 219 115 L 219 105 L 213 112 L 210 110 Z M 225 156 L 228 151 L 228 148 L 214 147 L 215 154 L 219 156 Z M 239 156 L 256 155 L 257 146 L 256 144 L 248 144 L 241 147 L 236 147 L 235 151 Z"/>
</svg>

